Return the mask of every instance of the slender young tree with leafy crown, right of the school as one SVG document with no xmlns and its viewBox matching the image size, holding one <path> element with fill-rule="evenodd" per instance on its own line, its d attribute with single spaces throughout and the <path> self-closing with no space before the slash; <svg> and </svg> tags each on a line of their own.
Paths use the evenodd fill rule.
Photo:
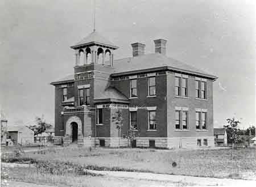
<svg viewBox="0 0 256 187">
<path fill-rule="evenodd" d="M 224 125 L 224 128 L 229 130 L 230 133 L 230 141 L 232 141 L 232 151 L 231 151 L 231 176 L 232 176 L 232 169 L 233 169 L 233 151 L 234 151 L 234 143 L 237 143 L 239 136 L 238 136 L 238 124 L 241 122 L 233 118 L 226 119 L 228 122 L 227 125 Z"/>
</svg>

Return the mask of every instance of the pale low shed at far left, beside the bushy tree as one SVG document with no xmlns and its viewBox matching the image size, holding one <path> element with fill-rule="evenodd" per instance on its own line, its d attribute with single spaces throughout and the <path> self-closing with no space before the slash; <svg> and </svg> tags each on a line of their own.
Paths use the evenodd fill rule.
<svg viewBox="0 0 256 187">
<path fill-rule="evenodd" d="M 34 131 L 26 126 L 8 126 L 6 145 L 31 145 L 34 143 Z"/>
</svg>

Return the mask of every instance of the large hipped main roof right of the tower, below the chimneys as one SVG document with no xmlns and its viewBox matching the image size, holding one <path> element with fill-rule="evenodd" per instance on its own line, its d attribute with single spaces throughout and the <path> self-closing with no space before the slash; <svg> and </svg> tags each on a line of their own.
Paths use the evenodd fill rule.
<svg viewBox="0 0 256 187">
<path fill-rule="evenodd" d="M 136 57 L 122 58 L 114 60 L 114 74 L 127 73 L 128 71 L 139 71 L 144 69 L 154 69 L 158 67 L 168 67 L 176 71 L 185 71 L 191 74 L 199 74 L 216 79 L 217 76 L 199 70 L 187 63 L 177 61 L 160 53 L 144 54 Z"/>
</svg>

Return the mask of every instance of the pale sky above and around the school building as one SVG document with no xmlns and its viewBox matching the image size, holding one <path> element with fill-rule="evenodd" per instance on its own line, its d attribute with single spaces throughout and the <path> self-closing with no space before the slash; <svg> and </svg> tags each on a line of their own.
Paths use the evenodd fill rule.
<svg viewBox="0 0 256 187">
<path fill-rule="evenodd" d="M 54 124 L 54 87 L 73 73 L 70 46 L 93 31 L 92 0 L 0 1 L 0 108 L 9 125 Z M 96 0 L 96 31 L 131 57 L 131 43 L 167 40 L 167 56 L 218 76 L 214 127 L 255 125 L 255 4 L 245 0 Z"/>
</svg>

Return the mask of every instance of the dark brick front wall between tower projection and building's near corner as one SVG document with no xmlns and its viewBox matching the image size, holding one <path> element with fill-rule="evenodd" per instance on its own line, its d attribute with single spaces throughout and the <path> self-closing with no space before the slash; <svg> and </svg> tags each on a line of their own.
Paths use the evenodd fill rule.
<svg viewBox="0 0 256 187">
<path fill-rule="evenodd" d="M 156 97 L 148 96 L 147 77 L 137 79 L 137 99 L 130 99 L 130 107 L 156 107 L 156 131 L 148 131 L 148 111 L 138 109 L 138 130 L 141 137 L 167 137 L 167 118 L 166 118 L 166 75 L 156 76 Z M 113 81 L 112 85 L 123 95 L 130 95 L 130 80 Z M 130 115 L 128 112 L 129 124 Z"/>
</svg>

